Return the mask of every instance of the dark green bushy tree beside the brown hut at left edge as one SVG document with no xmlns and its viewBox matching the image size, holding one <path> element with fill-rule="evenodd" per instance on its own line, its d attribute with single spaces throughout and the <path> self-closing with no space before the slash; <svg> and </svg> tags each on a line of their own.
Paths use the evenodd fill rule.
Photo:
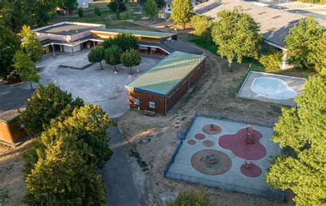
<svg viewBox="0 0 326 206">
<path fill-rule="evenodd" d="M 67 106 L 69 109 L 65 110 Z M 39 85 L 32 98 L 26 102 L 25 111 L 21 111 L 19 122 L 31 137 L 36 137 L 50 126 L 51 119 L 60 117 L 65 111 L 65 117 L 72 113 L 74 108 L 83 105 L 83 100 L 72 98 L 71 93 L 62 91 L 60 87 L 49 83 L 46 87 Z"/>
</svg>

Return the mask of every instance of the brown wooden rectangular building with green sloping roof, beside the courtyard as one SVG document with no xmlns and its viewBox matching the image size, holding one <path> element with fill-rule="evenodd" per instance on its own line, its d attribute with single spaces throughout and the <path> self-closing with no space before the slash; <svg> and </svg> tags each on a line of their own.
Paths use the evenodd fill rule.
<svg viewBox="0 0 326 206">
<path fill-rule="evenodd" d="M 205 72 L 206 56 L 173 52 L 127 84 L 131 108 L 166 115 Z"/>
</svg>

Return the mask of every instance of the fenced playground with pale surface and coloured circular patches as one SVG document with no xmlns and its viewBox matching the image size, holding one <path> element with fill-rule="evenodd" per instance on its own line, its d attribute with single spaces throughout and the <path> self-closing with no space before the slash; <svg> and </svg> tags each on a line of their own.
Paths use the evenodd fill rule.
<svg viewBox="0 0 326 206">
<path fill-rule="evenodd" d="M 270 157 L 281 153 L 272 133 L 268 127 L 195 117 L 165 175 L 283 201 L 283 192 L 264 179 Z"/>
</svg>

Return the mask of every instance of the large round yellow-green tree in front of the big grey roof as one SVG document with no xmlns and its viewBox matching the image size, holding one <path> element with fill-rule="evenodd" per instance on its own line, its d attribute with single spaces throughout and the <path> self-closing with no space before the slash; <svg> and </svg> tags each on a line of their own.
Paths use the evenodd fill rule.
<svg viewBox="0 0 326 206">
<path fill-rule="evenodd" d="M 218 45 L 217 54 L 228 59 L 228 70 L 232 61 L 241 63 L 243 57 L 257 57 L 261 35 L 259 25 L 252 16 L 242 12 L 241 7 L 221 10 L 219 19 L 212 27 L 213 41 Z"/>
</svg>

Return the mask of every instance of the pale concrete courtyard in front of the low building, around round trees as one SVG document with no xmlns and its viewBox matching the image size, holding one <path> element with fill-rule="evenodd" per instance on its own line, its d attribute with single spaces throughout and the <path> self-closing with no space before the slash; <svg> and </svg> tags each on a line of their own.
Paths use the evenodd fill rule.
<svg viewBox="0 0 326 206">
<path fill-rule="evenodd" d="M 83 70 L 67 69 L 59 65 L 73 62 L 87 62 L 88 52 L 76 54 L 75 56 L 57 55 L 47 56 L 46 60 L 36 65 L 39 73 L 40 83 L 54 82 L 61 89 L 67 90 L 74 98 L 80 97 L 86 103 L 92 102 L 102 106 L 110 117 L 119 117 L 129 110 L 129 96 L 124 85 L 131 82 L 142 74 L 143 71 L 155 65 L 160 58 L 155 56 L 142 56 L 142 63 L 133 67 L 133 75 L 129 75 L 129 68 L 117 65 L 118 73 L 113 73 L 112 66 L 102 61 L 103 69 L 96 63 Z M 138 72 L 137 72 L 138 71 Z M 36 87 L 34 84 L 33 87 Z M 116 92 L 116 85 L 118 92 Z M 21 84 L 23 89 L 29 89 L 29 84 Z"/>
</svg>

